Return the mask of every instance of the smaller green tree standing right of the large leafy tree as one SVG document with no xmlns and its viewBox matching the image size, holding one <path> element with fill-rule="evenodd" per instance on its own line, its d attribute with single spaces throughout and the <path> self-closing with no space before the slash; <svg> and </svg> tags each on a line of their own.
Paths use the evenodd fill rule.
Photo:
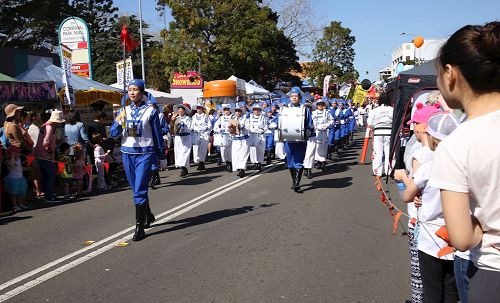
<svg viewBox="0 0 500 303">
<path fill-rule="evenodd" d="M 332 21 L 323 29 L 321 37 L 313 49 L 313 62 L 306 73 L 316 83 L 321 84 L 326 75 L 337 76 L 338 82 L 356 80 L 359 77 L 354 69 L 354 48 L 356 38 L 351 30 L 342 26 L 341 22 Z"/>
</svg>

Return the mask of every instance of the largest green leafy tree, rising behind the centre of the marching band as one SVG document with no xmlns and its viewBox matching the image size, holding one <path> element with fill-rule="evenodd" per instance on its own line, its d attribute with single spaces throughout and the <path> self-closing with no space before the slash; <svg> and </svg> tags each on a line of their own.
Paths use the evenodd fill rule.
<svg viewBox="0 0 500 303">
<path fill-rule="evenodd" d="M 172 10 L 162 33 L 165 72 L 197 70 L 205 80 L 231 74 L 264 86 L 300 70 L 291 39 L 277 27 L 277 15 L 256 0 L 159 0 Z"/>
</svg>

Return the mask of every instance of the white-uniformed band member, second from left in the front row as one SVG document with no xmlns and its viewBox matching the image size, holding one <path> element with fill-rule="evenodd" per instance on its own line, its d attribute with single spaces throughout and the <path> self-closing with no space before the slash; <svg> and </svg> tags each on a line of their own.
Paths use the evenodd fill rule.
<svg viewBox="0 0 500 303">
<path fill-rule="evenodd" d="M 205 113 L 205 106 L 196 105 L 196 113 L 191 117 L 191 140 L 193 143 L 193 161 L 198 163 L 197 170 L 205 169 L 205 158 L 212 124 Z"/>
</svg>

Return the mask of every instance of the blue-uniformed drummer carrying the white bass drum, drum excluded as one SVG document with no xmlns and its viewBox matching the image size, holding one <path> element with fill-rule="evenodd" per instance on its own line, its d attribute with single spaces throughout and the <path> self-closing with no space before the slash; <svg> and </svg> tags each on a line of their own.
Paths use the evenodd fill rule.
<svg viewBox="0 0 500 303">
<path fill-rule="evenodd" d="M 302 107 L 301 104 L 301 95 L 300 88 L 293 87 L 290 90 L 290 104 L 289 107 Z M 311 119 L 311 111 L 306 109 L 306 138 L 311 134 L 313 130 L 312 119 Z M 296 192 L 300 192 L 300 180 L 302 178 L 302 174 L 304 172 L 304 157 L 306 155 L 306 141 L 298 141 L 298 142 L 285 142 L 285 152 L 286 152 L 286 160 L 287 166 L 290 169 L 290 175 L 292 176 L 292 189 Z"/>
</svg>

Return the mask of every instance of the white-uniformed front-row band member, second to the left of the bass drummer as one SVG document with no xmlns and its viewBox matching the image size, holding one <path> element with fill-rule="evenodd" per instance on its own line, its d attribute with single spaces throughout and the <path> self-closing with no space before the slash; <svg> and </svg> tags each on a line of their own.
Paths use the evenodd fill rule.
<svg viewBox="0 0 500 303">
<path fill-rule="evenodd" d="M 248 120 L 240 107 L 235 110 L 235 116 L 230 121 L 230 132 L 233 135 L 231 158 L 233 171 L 238 171 L 238 176 L 243 178 L 247 169 L 249 156 L 248 148 Z"/>
</svg>

